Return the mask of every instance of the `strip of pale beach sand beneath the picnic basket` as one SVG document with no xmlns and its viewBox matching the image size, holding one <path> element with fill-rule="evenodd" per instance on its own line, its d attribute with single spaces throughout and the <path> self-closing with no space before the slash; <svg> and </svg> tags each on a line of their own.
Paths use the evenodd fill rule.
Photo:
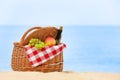
<svg viewBox="0 0 120 80">
<path fill-rule="evenodd" d="M 0 80 L 120 80 L 117 73 L 98 72 L 0 72 Z"/>
</svg>

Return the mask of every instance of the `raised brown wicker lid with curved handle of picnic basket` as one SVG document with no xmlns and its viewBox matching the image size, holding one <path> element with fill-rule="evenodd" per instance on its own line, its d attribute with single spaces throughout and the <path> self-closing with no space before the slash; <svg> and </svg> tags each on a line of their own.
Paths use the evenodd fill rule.
<svg viewBox="0 0 120 80">
<path fill-rule="evenodd" d="M 32 38 L 38 38 L 41 41 L 44 41 L 49 36 L 56 38 L 58 30 L 62 31 L 62 28 L 63 28 L 62 26 L 60 26 L 59 29 L 57 29 L 56 27 L 51 27 L 51 26 L 48 26 L 48 27 L 36 26 L 36 27 L 30 28 L 23 34 L 20 40 L 20 44 L 22 46 L 27 45 L 30 39 Z"/>
</svg>

